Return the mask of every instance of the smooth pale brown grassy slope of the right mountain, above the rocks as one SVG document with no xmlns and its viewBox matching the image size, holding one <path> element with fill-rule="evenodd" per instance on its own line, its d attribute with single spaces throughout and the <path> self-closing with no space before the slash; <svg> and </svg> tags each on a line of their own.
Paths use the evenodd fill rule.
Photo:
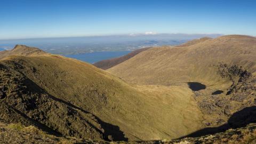
<svg viewBox="0 0 256 144">
<path fill-rule="evenodd" d="M 108 71 L 129 83 L 143 85 L 173 85 L 184 82 L 223 84 L 228 79 L 218 76 L 211 67 L 219 62 L 237 64 L 253 75 L 256 74 L 255 37 L 229 35 L 203 40 L 188 46 L 155 47 Z"/>
</svg>

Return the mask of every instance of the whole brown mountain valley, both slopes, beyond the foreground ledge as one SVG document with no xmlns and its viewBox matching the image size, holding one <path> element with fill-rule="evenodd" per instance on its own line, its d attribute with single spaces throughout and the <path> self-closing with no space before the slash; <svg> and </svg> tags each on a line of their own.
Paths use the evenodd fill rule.
<svg viewBox="0 0 256 144">
<path fill-rule="evenodd" d="M 0 116 L 84 140 L 219 137 L 255 123 L 255 55 L 255 37 L 227 35 L 149 47 L 97 68 L 16 45 L 0 52 Z"/>
</svg>

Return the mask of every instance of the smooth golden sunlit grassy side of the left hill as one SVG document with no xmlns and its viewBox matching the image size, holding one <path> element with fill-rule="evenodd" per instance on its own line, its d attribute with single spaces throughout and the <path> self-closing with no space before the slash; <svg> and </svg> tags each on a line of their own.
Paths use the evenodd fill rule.
<svg viewBox="0 0 256 144">
<path fill-rule="evenodd" d="M 10 55 L 7 61 L 53 97 L 98 117 L 110 140 L 172 139 L 202 128 L 202 113 L 185 86 L 133 86 L 60 55 Z"/>
</svg>

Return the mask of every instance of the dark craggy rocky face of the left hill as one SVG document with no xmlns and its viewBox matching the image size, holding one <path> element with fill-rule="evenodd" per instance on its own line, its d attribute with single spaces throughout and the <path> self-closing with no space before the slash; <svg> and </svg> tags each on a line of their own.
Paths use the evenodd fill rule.
<svg viewBox="0 0 256 144">
<path fill-rule="evenodd" d="M 57 135 L 105 139 L 101 124 L 95 116 L 47 93 L 17 70 L 24 68 L 22 65 L 3 60 L 0 67 L 0 115 L 5 121 L 34 125 Z"/>
</svg>

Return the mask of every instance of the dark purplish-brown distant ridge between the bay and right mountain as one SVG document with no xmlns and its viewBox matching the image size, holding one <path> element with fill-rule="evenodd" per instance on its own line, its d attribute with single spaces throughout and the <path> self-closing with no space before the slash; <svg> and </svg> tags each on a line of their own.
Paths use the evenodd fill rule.
<svg viewBox="0 0 256 144">
<path fill-rule="evenodd" d="M 130 59 L 132 57 L 134 57 L 138 53 L 140 53 L 142 51 L 145 51 L 145 50 L 148 50 L 148 49 L 150 49 L 150 47 L 146 47 L 146 48 L 143 48 L 143 49 L 135 50 L 135 51 L 130 52 L 129 54 L 126 54 L 126 55 L 124 55 L 122 57 L 95 62 L 95 63 L 93 63 L 93 65 L 95 67 L 98 67 L 98 68 L 101 68 L 101 69 L 109 69 L 111 67 L 114 67 L 114 66 L 118 65 L 119 63 L 122 63 L 122 62 L 124 62 L 124 61 L 126 61 L 126 60 L 128 60 L 128 59 Z"/>
</svg>

